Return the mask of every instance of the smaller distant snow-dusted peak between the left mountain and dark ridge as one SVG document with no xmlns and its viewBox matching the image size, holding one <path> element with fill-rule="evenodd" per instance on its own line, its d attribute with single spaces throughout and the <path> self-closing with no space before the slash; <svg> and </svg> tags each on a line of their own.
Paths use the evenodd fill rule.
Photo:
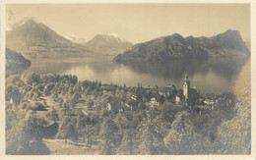
<svg viewBox="0 0 256 160">
<path fill-rule="evenodd" d="M 125 40 L 117 33 L 97 34 L 87 42 L 87 46 L 96 55 L 116 56 L 117 54 L 129 49 L 132 43 Z"/>
</svg>

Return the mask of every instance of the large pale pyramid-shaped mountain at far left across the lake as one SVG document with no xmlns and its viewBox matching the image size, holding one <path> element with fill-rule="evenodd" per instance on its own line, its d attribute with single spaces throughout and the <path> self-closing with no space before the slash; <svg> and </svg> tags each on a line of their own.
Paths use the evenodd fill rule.
<svg viewBox="0 0 256 160">
<path fill-rule="evenodd" d="M 90 50 L 75 44 L 36 19 L 25 18 L 6 32 L 6 46 L 31 57 L 83 55 Z"/>
</svg>

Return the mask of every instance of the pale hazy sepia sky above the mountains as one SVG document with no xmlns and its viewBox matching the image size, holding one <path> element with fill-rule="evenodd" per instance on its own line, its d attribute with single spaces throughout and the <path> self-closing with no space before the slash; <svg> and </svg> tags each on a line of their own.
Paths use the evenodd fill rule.
<svg viewBox="0 0 256 160">
<path fill-rule="evenodd" d="M 7 24 L 34 17 L 62 35 L 116 32 L 138 43 L 179 33 L 212 36 L 237 29 L 250 38 L 249 4 L 9 4 Z"/>
</svg>

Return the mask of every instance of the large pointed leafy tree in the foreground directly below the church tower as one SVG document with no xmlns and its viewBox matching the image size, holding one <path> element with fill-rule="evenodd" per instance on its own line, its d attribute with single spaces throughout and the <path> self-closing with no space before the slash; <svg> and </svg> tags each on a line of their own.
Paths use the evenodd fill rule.
<svg viewBox="0 0 256 160">
<path fill-rule="evenodd" d="M 163 141 L 169 154 L 209 154 L 211 150 L 210 140 L 191 127 L 187 111 L 176 116 Z"/>
</svg>

